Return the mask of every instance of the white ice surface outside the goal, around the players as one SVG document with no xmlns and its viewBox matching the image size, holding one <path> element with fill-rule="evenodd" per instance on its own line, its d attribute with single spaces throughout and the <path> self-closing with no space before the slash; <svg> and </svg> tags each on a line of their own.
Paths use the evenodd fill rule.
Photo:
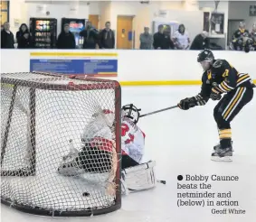
<svg viewBox="0 0 256 222">
<path fill-rule="evenodd" d="M 122 105 L 133 103 L 141 114 L 175 106 L 185 97 L 200 90 L 194 87 L 126 87 L 122 88 Z M 232 122 L 233 162 L 212 162 L 213 145 L 218 142 L 213 120 L 217 102 L 183 111 L 178 108 L 145 116 L 138 125 L 146 134 L 145 161 L 156 161 L 156 177 L 166 180 L 156 189 L 131 193 L 122 199 L 122 208 L 96 217 L 40 217 L 25 214 L 1 205 L 2 222 L 253 222 L 256 217 L 256 96 Z M 235 181 L 207 181 L 209 192 L 231 192 L 225 206 L 177 206 L 177 193 L 192 189 L 177 189 L 177 183 L 197 184 L 203 181 L 178 181 L 177 176 L 212 175 L 238 176 Z M 28 188 L 29 189 L 29 188 Z M 195 191 L 195 190 L 193 190 Z M 204 192 L 204 189 L 197 189 Z M 184 199 L 185 200 L 185 199 Z M 198 200 L 198 199 L 192 199 Z M 218 199 L 214 199 L 214 203 Z M 205 203 L 207 198 L 204 199 Z M 227 206 L 237 201 L 239 206 Z M 205 204 L 206 205 L 206 204 Z M 236 208 L 245 214 L 213 214 L 213 209 Z"/>
</svg>

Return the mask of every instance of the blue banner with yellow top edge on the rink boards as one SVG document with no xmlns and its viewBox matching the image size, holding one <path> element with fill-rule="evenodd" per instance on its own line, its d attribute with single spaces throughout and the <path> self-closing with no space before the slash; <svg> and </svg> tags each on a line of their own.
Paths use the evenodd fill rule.
<svg viewBox="0 0 256 222">
<path fill-rule="evenodd" d="M 32 52 L 31 54 L 36 53 Z M 92 75 L 116 77 L 118 74 L 118 60 L 110 54 L 89 54 L 89 53 L 52 53 L 42 54 L 38 52 L 32 55 L 30 60 L 30 71 L 54 72 L 72 75 Z M 59 55 L 56 58 L 56 55 Z M 40 57 L 43 58 L 40 58 Z M 37 58 L 33 58 L 37 57 Z M 46 58 L 48 57 L 48 58 Z M 84 59 L 81 59 L 83 57 Z M 97 58 L 95 58 L 97 57 Z M 101 58 L 99 58 L 101 57 Z"/>
</svg>

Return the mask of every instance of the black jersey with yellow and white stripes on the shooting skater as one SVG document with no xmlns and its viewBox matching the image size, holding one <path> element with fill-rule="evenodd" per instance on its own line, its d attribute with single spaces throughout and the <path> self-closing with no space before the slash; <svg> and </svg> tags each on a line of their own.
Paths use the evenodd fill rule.
<svg viewBox="0 0 256 222">
<path fill-rule="evenodd" d="M 251 77 L 247 73 L 240 73 L 227 60 L 213 60 L 211 69 L 204 71 L 200 95 L 207 101 L 214 87 L 220 93 L 228 93 L 239 87 L 251 88 Z"/>
</svg>

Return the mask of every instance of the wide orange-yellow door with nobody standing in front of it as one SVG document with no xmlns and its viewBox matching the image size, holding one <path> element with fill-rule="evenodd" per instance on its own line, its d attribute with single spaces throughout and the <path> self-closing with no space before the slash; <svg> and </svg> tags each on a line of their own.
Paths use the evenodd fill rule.
<svg viewBox="0 0 256 222">
<path fill-rule="evenodd" d="M 134 16 L 118 16 L 117 49 L 131 50 L 133 48 L 133 18 Z"/>
</svg>

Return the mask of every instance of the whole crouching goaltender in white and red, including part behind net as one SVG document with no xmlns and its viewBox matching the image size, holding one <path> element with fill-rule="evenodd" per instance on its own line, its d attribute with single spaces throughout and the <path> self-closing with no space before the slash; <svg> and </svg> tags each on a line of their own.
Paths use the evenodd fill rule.
<svg viewBox="0 0 256 222">
<path fill-rule="evenodd" d="M 139 111 L 132 104 L 122 107 L 122 190 L 146 190 L 155 187 L 155 162 L 141 163 L 144 154 L 145 134 L 138 128 Z M 114 114 L 103 110 L 103 114 L 92 116 L 81 135 L 82 148 L 71 147 L 63 157 L 58 172 L 64 176 L 80 175 L 85 172 L 108 172 L 112 167 L 114 143 L 112 130 Z M 71 145 L 72 146 L 72 145 Z"/>
</svg>

